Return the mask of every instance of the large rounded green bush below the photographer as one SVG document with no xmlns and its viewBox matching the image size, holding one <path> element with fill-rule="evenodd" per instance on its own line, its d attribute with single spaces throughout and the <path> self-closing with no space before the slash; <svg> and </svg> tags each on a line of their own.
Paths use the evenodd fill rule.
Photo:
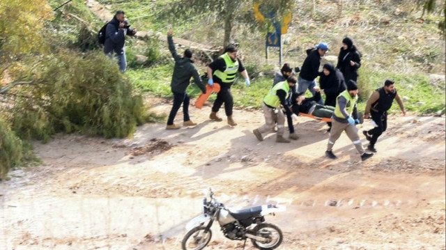
<svg viewBox="0 0 446 250">
<path fill-rule="evenodd" d="M 146 120 L 140 95 L 115 61 L 102 52 L 47 56 L 33 71 L 34 84 L 22 86 L 12 123 L 23 138 L 47 141 L 54 132 L 123 137 Z"/>
</svg>

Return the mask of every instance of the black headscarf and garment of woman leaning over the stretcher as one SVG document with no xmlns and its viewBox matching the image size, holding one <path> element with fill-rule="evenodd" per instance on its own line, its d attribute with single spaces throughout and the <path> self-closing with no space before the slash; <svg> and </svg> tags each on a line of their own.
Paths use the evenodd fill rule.
<svg viewBox="0 0 446 250">
<path fill-rule="evenodd" d="M 335 107 L 336 97 L 346 90 L 346 82 L 341 71 L 334 68 L 332 64 L 325 64 L 324 68 L 330 71 L 330 75 L 321 73 L 319 84 L 325 93 L 325 105 Z"/>
</svg>

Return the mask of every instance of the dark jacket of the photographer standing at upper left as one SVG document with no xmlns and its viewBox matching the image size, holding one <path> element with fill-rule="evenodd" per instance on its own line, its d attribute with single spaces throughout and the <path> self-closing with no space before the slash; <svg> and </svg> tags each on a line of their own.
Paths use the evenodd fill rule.
<svg viewBox="0 0 446 250">
<path fill-rule="evenodd" d="M 133 29 L 119 29 L 119 21 L 116 19 L 116 16 L 113 17 L 105 29 L 104 53 L 115 52 L 116 54 L 123 54 L 125 35 L 133 36 Z"/>
</svg>

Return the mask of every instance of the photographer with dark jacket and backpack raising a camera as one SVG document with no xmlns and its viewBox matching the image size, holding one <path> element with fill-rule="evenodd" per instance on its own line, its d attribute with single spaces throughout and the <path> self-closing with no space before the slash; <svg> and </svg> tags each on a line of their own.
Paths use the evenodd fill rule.
<svg viewBox="0 0 446 250">
<path fill-rule="evenodd" d="M 125 19 L 123 10 L 116 11 L 112 21 L 107 24 L 104 53 L 110 58 L 113 58 L 113 53 L 116 53 L 121 72 L 125 72 L 127 68 L 124 49 L 125 35 L 134 36 L 136 33 L 137 29 L 130 29 L 130 24 Z"/>
</svg>

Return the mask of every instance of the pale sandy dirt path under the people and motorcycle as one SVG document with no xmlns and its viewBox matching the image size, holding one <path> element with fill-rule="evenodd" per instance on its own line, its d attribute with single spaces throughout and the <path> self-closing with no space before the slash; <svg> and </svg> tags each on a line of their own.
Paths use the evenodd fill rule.
<svg viewBox="0 0 446 250">
<path fill-rule="evenodd" d="M 332 161 L 323 123 L 300 118 L 298 141 L 259 142 L 260 111 L 235 111 L 229 127 L 207 120 L 209 109 L 192 107 L 199 125 L 176 131 L 34 143 L 44 164 L 0 183 L 0 249 L 180 249 L 208 187 L 235 208 L 286 205 L 267 218 L 284 231 L 282 250 L 445 249 L 445 118 L 391 116 L 378 154 L 360 162 L 344 134 Z M 206 249 L 235 249 L 219 231 Z"/>
</svg>

